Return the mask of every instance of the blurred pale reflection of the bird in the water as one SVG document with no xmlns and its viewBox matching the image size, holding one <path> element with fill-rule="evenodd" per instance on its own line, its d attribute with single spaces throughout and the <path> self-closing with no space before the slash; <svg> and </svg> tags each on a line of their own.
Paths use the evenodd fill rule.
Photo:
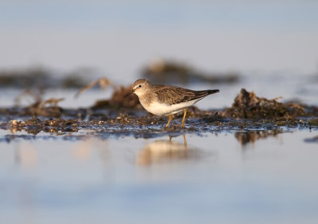
<svg viewBox="0 0 318 224">
<path fill-rule="evenodd" d="M 157 140 L 141 149 L 137 155 L 136 163 L 150 165 L 170 160 L 198 159 L 203 152 L 195 147 L 188 147 L 183 135 L 183 143 L 168 140 Z"/>
</svg>

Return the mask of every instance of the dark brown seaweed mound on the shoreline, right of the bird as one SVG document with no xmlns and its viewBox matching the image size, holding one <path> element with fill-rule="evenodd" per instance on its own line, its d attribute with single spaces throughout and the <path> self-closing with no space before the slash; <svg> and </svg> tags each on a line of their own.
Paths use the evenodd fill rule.
<svg viewBox="0 0 318 224">
<path fill-rule="evenodd" d="M 295 103 L 281 103 L 276 99 L 266 99 L 256 96 L 252 92 L 241 89 L 241 92 L 234 99 L 232 107 L 227 108 L 220 114 L 226 118 L 242 119 L 277 119 L 281 117 L 294 118 L 306 116 L 305 109 Z"/>
</svg>

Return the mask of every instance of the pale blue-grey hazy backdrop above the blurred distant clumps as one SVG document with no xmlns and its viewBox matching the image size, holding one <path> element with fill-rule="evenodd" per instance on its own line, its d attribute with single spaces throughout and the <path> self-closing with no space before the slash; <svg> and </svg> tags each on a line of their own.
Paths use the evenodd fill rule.
<svg viewBox="0 0 318 224">
<path fill-rule="evenodd" d="M 313 73 L 318 1 L 0 3 L 0 69 L 92 67 L 138 76 L 155 58 L 205 71 Z"/>
</svg>

